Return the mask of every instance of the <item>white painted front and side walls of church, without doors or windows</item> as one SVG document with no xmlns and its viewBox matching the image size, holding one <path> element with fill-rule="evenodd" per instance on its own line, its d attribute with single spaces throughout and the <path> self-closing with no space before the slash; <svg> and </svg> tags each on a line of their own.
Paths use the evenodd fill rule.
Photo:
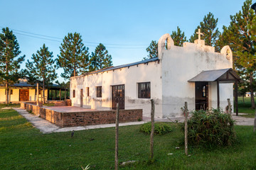
<svg viewBox="0 0 256 170">
<path fill-rule="evenodd" d="M 188 82 L 202 71 L 212 69 L 226 69 L 233 67 L 232 52 L 228 57 L 223 47 L 220 53 L 214 52 L 214 47 L 204 45 L 203 40 L 196 43 L 185 42 L 183 47 L 174 46 L 169 35 L 168 48 L 159 42 L 159 62 L 138 64 L 122 69 L 114 69 L 98 74 L 89 74 L 70 78 L 70 98 L 73 106 L 80 106 L 80 89 L 83 89 L 84 108 L 98 110 L 110 110 L 112 108 L 113 85 L 124 84 L 125 109 L 142 108 L 143 115 L 149 117 L 151 104 L 150 98 L 138 98 L 139 82 L 151 82 L 151 98 L 156 103 L 156 118 L 168 118 L 181 116 L 181 107 L 185 101 L 188 109 L 195 108 L 195 83 Z M 159 41 L 164 41 L 160 38 Z M 102 98 L 96 97 L 96 86 L 102 86 Z M 90 88 L 90 96 L 87 96 L 86 88 Z M 75 89 L 75 97 L 73 90 Z M 216 82 L 209 83 L 209 108 L 217 107 Z M 220 84 L 220 107 L 227 106 L 227 98 L 233 103 L 233 84 Z"/>
</svg>

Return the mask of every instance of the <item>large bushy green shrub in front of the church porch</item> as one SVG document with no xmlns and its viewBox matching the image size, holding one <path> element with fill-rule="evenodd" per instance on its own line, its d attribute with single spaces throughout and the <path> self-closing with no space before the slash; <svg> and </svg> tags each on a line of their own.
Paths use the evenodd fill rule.
<svg viewBox="0 0 256 170">
<path fill-rule="evenodd" d="M 192 117 L 188 119 L 189 144 L 221 146 L 235 142 L 234 120 L 229 114 L 218 109 L 191 113 Z"/>
</svg>

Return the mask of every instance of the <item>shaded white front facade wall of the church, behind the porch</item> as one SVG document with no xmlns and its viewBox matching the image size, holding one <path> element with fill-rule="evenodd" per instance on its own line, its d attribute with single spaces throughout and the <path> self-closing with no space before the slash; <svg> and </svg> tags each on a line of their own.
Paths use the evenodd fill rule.
<svg viewBox="0 0 256 170">
<path fill-rule="evenodd" d="M 195 109 L 195 83 L 188 82 L 206 70 L 232 68 L 232 58 L 214 52 L 214 48 L 191 42 L 183 47 L 171 46 L 162 57 L 163 117 L 181 116 L 185 101 L 188 109 Z M 220 107 L 227 106 L 227 98 L 233 102 L 233 84 L 220 84 Z M 217 84 L 209 83 L 209 108 L 217 107 Z"/>
</svg>

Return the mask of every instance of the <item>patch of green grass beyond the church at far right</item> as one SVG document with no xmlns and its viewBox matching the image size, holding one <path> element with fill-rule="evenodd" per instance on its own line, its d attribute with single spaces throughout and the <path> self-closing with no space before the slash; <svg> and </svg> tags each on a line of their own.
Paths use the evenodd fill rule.
<svg viewBox="0 0 256 170">
<path fill-rule="evenodd" d="M 256 98 L 255 98 L 256 102 Z M 235 106 L 235 105 L 234 105 Z M 238 112 L 239 113 L 248 113 L 248 115 L 241 115 L 245 118 L 255 118 L 255 109 L 251 108 L 250 98 L 245 98 L 245 103 L 242 101 L 242 97 L 238 97 Z"/>
</svg>

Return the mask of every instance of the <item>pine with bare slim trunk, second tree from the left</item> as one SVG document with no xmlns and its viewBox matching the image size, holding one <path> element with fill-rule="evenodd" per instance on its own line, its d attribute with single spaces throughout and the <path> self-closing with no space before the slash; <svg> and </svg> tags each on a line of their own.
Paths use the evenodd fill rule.
<svg viewBox="0 0 256 170">
<path fill-rule="evenodd" d="M 55 73 L 55 60 L 53 60 L 53 52 L 48 50 L 45 44 L 36 55 L 32 55 L 32 61 L 26 62 L 28 72 L 31 73 L 31 77 L 37 81 L 43 81 L 43 103 L 45 103 L 45 85 L 57 78 Z"/>
</svg>

